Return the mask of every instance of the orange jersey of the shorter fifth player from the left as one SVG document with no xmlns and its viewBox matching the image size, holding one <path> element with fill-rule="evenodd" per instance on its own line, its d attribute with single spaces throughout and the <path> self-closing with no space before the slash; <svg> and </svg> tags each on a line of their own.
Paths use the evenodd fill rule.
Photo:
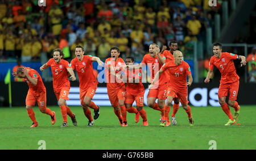
<svg viewBox="0 0 256 161">
<path fill-rule="evenodd" d="M 126 91 L 132 95 L 137 95 L 144 91 L 144 86 L 141 82 L 142 79 L 142 70 L 141 69 L 134 69 L 134 70 L 127 70 L 125 73 L 127 77 L 127 86 Z M 139 82 L 135 82 L 135 79 L 139 79 Z M 139 84 L 134 84 L 139 83 Z"/>
</svg>

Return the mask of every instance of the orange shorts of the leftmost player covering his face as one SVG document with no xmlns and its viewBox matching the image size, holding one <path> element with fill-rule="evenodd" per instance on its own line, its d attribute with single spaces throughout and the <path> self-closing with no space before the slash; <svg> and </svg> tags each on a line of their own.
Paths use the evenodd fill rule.
<svg viewBox="0 0 256 161">
<path fill-rule="evenodd" d="M 40 93 L 39 96 L 31 95 L 30 92 L 27 93 L 26 105 L 35 106 L 35 103 L 38 103 L 39 109 L 46 109 L 46 92 Z"/>
</svg>

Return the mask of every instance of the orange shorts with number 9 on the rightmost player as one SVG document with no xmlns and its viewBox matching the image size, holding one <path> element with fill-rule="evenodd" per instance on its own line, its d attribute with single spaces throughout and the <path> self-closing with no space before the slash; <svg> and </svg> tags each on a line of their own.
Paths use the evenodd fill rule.
<svg viewBox="0 0 256 161">
<path fill-rule="evenodd" d="M 237 94 L 239 89 L 239 81 L 234 83 L 220 84 L 218 88 L 218 97 L 222 98 L 224 96 L 228 96 L 229 100 L 237 100 Z"/>
</svg>

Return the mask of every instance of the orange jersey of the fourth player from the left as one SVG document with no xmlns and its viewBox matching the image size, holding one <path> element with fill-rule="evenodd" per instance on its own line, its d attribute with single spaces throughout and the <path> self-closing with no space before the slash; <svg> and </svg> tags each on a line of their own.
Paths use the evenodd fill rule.
<svg viewBox="0 0 256 161">
<path fill-rule="evenodd" d="M 112 58 L 108 58 L 105 61 L 105 75 L 107 81 L 107 87 L 109 90 L 117 90 L 122 86 L 125 86 L 122 79 L 116 78 L 114 75 L 110 74 L 110 66 L 113 66 L 115 74 L 121 75 L 122 73 L 122 66 L 125 65 L 125 61 L 122 58 L 118 58 L 117 61 L 113 61 Z"/>
</svg>

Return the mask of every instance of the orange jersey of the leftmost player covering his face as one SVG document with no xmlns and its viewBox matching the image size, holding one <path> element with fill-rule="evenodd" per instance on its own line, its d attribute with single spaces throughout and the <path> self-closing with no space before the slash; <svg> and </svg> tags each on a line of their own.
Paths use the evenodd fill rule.
<svg viewBox="0 0 256 161">
<path fill-rule="evenodd" d="M 28 81 L 27 78 L 25 79 L 29 87 L 28 93 L 30 93 L 33 96 L 39 96 L 42 94 L 42 92 L 46 92 L 46 87 L 44 87 L 44 83 L 39 73 L 36 70 L 31 69 L 30 67 L 26 67 L 26 69 L 29 70 L 28 75 L 30 75 L 31 78 L 38 79 L 38 84 L 36 84 L 36 86 L 30 83 L 30 81 Z"/>
</svg>

